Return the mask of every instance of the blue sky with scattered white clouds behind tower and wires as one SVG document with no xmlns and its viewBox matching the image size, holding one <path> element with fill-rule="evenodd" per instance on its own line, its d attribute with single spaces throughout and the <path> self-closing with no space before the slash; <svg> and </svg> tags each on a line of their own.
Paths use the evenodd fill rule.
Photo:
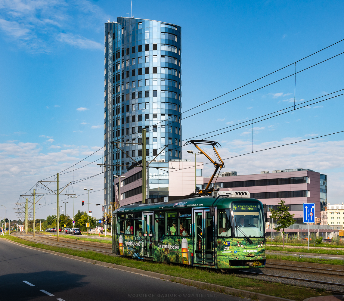
<svg viewBox="0 0 344 301">
<path fill-rule="evenodd" d="M 182 111 L 343 39 L 343 10 L 341 1 L 133 0 L 135 18 L 182 27 Z M 11 219 L 15 218 L 12 208 L 20 194 L 103 146 L 104 23 L 127 13 L 130 15 L 130 1 L 1 1 L 0 197 Z M 297 63 L 297 71 L 343 49 L 344 41 Z M 182 137 L 188 139 L 281 110 L 294 103 L 294 96 L 299 104 L 343 89 L 343 62 L 340 55 L 297 74 L 295 95 L 291 76 L 185 118 L 293 74 L 292 65 L 186 112 Z M 257 123 L 253 149 L 344 130 L 342 112 L 340 96 Z M 221 143 L 223 158 L 245 153 L 252 148 L 252 126 L 212 139 Z M 314 139 L 227 160 L 225 171 L 249 174 L 313 169 L 328 175 L 328 201 L 334 204 L 342 201 L 344 188 L 343 145 L 343 134 Z M 192 159 L 185 150 L 183 158 Z M 101 151 L 85 164 L 98 158 Z M 74 180 L 99 173 L 96 163 L 75 171 Z M 212 172 L 208 166 L 204 175 Z M 61 177 L 61 181 L 73 181 L 73 172 Z M 90 199 L 92 195 L 93 203 L 103 203 L 103 182 L 99 175 L 73 189 L 81 194 L 85 185 L 92 186 L 100 191 L 90 194 Z M 85 200 L 84 196 L 78 197 L 76 210 L 82 209 L 81 198 Z M 53 200 L 46 198 L 45 202 Z M 94 210 L 101 216 L 98 207 Z M 44 206 L 37 215 L 45 217 L 52 213 L 51 208 L 53 204 Z"/>
</svg>

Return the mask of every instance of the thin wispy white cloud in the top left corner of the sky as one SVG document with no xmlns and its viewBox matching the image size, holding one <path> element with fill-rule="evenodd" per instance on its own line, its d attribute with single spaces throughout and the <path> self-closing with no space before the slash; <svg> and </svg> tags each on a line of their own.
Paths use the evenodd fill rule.
<svg viewBox="0 0 344 301">
<path fill-rule="evenodd" d="M 0 30 L 6 40 L 31 53 L 50 53 L 64 45 L 101 49 L 101 41 L 71 31 L 98 33 L 106 18 L 102 9 L 86 0 L 2 0 L 0 4 Z"/>
</svg>

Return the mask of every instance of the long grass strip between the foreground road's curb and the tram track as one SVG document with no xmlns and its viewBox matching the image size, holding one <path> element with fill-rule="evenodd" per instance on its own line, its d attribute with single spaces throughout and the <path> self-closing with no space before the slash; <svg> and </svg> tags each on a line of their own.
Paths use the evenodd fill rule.
<svg viewBox="0 0 344 301">
<path fill-rule="evenodd" d="M 170 275 L 173 277 L 181 277 L 206 283 L 218 284 L 230 288 L 236 288 L 261 294 L 272 295 L 280 298 L 287 298 L 296 301 L 302 301 L 310 297 L 318 297 L 322 295 L 331 295 L 332 293 L 323 290 L 309 289 L 305 287 L 290 286 L 288 284 L 266 282 L 252 278 L 239 278 L 233 274 L 223 274 L 216 270 L 202 269 L 177 264 L 165 264 L 161 262 L 150 262 L 145 260 L 136 260 L 125 257 L 115 257 L 100 254 L 95 251 L 78 251 L 63 247 L 53 247 L 43 244 L 36 244 L 31 241 L 10 236 L 10 240 L 16 241 L 26 246 L 33 246 L 45 250 L 52 250 L 64 254 L 80 256 L 88 259 L 109 262 L 116 265 L 132 267 L 145 271 L 152 271 Z"/>
</svg>

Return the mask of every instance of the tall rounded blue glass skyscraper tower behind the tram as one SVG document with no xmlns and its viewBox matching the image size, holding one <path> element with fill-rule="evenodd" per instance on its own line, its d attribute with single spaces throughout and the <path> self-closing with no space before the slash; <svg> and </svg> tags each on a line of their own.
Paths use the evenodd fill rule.
<svg viewBox="0 0 344 301">
<path fill-rule="evenodd" d="M 118 17 L 105 23 L 104 53 L 104 156 L 105 164 L 114 164 L 104 176 L 109 205 L 115 202 L 113 176 L 142 160 L 142 145 L 129 143 L 142 143 L 143 128 L 147 161 L 182 158 L 181 27 Z"/>
</svg>

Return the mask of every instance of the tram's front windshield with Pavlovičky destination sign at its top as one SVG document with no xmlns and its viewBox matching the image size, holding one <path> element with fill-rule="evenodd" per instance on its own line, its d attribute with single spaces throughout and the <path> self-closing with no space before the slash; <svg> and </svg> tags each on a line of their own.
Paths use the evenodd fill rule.
<svg viewBox="0 0 344 301">
<path fill-rule="evenodd" d="M 234 233 L 236 237 L 263 237 L 262 211 L 256 202 L 233 202 Z"/>
</svg>

